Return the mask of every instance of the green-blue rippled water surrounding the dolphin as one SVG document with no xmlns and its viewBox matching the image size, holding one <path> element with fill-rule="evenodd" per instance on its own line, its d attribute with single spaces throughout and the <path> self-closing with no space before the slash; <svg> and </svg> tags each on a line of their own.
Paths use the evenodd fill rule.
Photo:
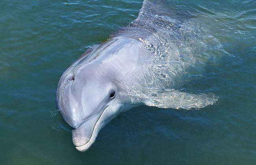
<svg viewBox="0 0 256 165">
<path fill-rule="evenodd" d="M 174 0 L 219 43 L 185 90 L 210 90 L 201 110 L 140 106 L 76 151 L 56 110 L 59 77 L 90 46 L 127 26 L 139 0 L 0 2 L 0 164 L 256 164 L 256 3 Z M 213 44 L 215 45 L 215 44 Z M 214 62 L 212 62 L 214 61 Z"/>
</svg>

